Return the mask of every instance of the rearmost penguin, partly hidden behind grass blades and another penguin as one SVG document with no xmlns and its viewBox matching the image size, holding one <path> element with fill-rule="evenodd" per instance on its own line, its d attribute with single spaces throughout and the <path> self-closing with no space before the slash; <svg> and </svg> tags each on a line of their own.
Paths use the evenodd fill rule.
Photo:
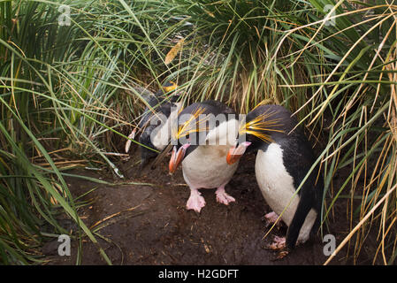
<svg viewBox="0 0 397 283">
<path fill-rule="evenodd" d="M 170 142 L 170 126 L 173 119 L 178 118 L 181 103 L 178 102 L 178 86 L 174 82 L 165 83 L 156 94 L 145 94 L 143 99 L 149 104 L 142 114 L 141 120 L 128 136 L 134 139 L 141 131 L 141 168 L 149 163 L 150 159 L 157 157 Z M 126 142 L 126 152 L 131 145 L 131 140 Z"/>
</svg>

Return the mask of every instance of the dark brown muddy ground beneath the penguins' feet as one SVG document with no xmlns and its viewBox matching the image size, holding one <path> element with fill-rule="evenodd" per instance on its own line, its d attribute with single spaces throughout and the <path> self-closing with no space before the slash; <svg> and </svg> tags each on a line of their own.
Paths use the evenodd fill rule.
<svg viewBox="0 0 397 283">
<path fill-rule="evenodd" d="M 281 260 L 275 260 L 277 254 L 266 249 L 272 237 L 284 235 L 286 228 L 273 229 L 263 239 L 269 231 L 263 215 L 271 209 L 256 184 L 254 155 L 241 159 L 226 186 L 236 202 L 228 206 L 217 203 L 215 189 L 202 189 L 207 204 L 200 214 L 185 208 L 189 189 L 180 168 L 171 176 L 168 160 L 164 160 L 154 171 L 146 168 L 137 172 L 134 164 L 138 156 L 133 152 L 129 160 L 119 164 L 126 176 L 123 181 L 148 185 L 106 186 L 76 178 L 66 180 L 74 196 L 96 187 L 80 199 L 91 203 L 81 207 L 79 215 L 88 227 L 99 229 L 103 238 L 96 238 L 113 264 L 324 264 L 327 259 L 319 236 Z M 78 172 L 112 180 L 105 173 Z M 336 176 L 333 181 L 338 186 L 343 178 Z M 334 234 L 339 244 L 348 231 L 346 203 L 337 203 L 335 208 L 325 232 Z M 78 241 L 72 241 L 71 256 L 57 256 L 58 244 L 50 241 L 44 246 L 47 264 L 75 264 Z M 365 246 L 356 264 L 371 264 L 373 254 L 373 248 Z M 346 255 L 347 249 L 342 250 L 332 264 L 352 264 Z M 105 264 L 87 237 L 82 243 L 81 264 Z"/>
</svg>

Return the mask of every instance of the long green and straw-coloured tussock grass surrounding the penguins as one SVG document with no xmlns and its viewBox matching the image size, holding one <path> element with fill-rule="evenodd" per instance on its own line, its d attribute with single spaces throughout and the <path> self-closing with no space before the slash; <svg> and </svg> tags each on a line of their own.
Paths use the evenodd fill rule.
<svg viewBox="0 0 397 283">
<path fill-rule="evenodd" d="M 60 4 L 71 26 L 58 25 Z M 395 263 L 393 2 L 19 0 L 0 1 L 0 14 L 2 263 L 40 263 L 43 223 L 65 232 L 60 210 L 96 242 L 63 162 L 122 178 L 118 143 L 147 105 L 140 89 L 164 80 L 179 84 L 185 104 L 218 99 L 246 113 L 264 100 L 294 111 L 321 149 L 324 224 L 349 199 L 340 248 L 356 261 L 376 230 L 374 263 Z"/>
</svg>

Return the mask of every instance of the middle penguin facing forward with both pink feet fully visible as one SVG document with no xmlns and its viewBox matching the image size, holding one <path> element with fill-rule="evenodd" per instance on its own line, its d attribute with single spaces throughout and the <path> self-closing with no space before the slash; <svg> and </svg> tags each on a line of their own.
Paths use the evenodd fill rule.
<svg viewBox="0 0 397 283">
<path fill-rule="evenodd" d="M 187 210 L 200 212 L 205 200 L 199 188 L 217 188 L 218 203 L 234 202 L 225 185 L 232 179 L 238 163 L 227 164 L 228 150 L 235 142 L 239 122 L 224 103 L 193 103 L 179 113 L 177 133 L 169 163 L 171 173 L 182 164 L 183 177 L 190 187 Z"/>
</svg>

